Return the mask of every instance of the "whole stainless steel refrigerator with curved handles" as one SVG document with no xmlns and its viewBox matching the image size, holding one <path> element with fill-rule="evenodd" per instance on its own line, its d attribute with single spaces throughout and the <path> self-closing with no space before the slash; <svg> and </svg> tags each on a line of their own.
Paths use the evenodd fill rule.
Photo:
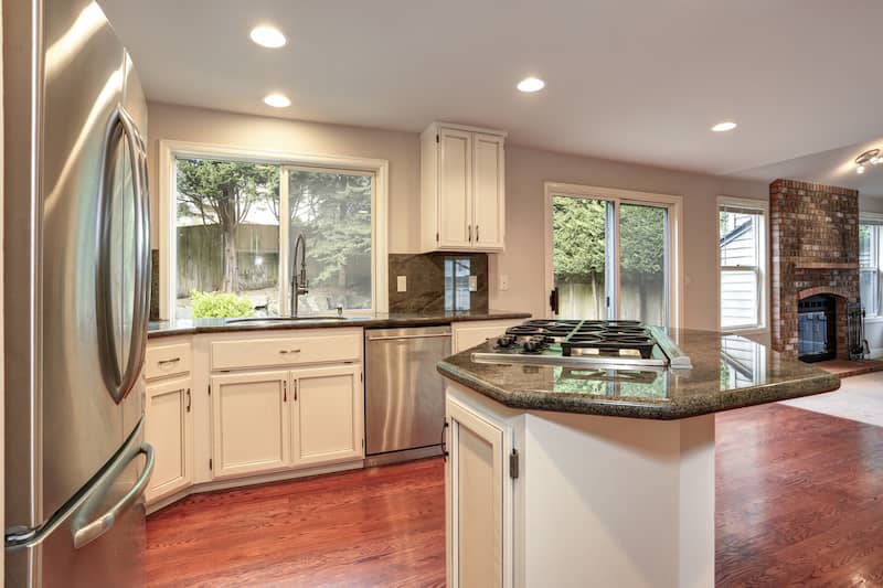
<svg viewBox="0 0 883 588">
<path fill-rule="evenodd" d="M 3 0 L 6 585 L 143 584 L 147 108 L 97 3 Z"/>
</svg>

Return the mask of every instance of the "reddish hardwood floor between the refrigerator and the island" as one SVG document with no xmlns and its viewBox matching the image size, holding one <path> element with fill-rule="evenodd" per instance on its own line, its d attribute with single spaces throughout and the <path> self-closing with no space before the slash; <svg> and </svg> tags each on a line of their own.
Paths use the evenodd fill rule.
<svg viewBox="0 0 883 588">
<path fill-rule="evenodd" d="M 438 459 L 193 495 L 148 517 L 148 586 L 444 586 L 444 502 Z"/>
</svg>

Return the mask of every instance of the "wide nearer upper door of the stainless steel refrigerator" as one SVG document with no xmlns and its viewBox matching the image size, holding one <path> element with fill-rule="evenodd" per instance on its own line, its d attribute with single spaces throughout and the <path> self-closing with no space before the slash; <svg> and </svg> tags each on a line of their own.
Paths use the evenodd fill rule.
<svg viewBox="0 0 883 588">
<path fill-rule="evenodd" d="M 124 50 L 88 0 L 44 0 L 42 511 L 56 512 L 126 438 L 121 298 L 135 143 L 119 114 Z M 38 456 L 39 458 L 39 456 Z"/>
</svg>

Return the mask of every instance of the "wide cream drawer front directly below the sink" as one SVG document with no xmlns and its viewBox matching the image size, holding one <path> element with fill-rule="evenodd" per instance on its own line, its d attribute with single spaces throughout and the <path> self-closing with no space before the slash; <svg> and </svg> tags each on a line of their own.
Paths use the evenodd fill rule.
<svg viewBox="0 0 883 588">
<path fill-rule="evenodd" d="M 345 362 L 361 357 L 362 336 L 352 332 L 212 343 L 212 370 Z"/>
</svg>

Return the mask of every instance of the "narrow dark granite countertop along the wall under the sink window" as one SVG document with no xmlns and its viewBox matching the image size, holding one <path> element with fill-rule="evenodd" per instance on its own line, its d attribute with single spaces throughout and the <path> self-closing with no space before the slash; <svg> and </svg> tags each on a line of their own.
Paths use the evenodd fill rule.
<svg viewBox="0 0 883 588">
<path fill-rule="evenodd" d="M 330 314 L 333 314 L 331 312 Z M 148 339 L 193 333 L 223 333 L 231 331 L 265 331 L 278 329 L 325 329 L 341 327 L 425 327 L 433 324 L 450 324 L 461 321 L 487 321 L 496 319 L 529 319 L 530 312 L 509 310 L 464 310 L 438 312 L 374 313 L 366 317 L 344 317 L 343 319 L 308 319 L 296 321 L 273 320 L 262 322 L 259 319 L 246 322 L 230 322 L 235 319 L 187 319 L 151 322 Z"/>
</svg>

